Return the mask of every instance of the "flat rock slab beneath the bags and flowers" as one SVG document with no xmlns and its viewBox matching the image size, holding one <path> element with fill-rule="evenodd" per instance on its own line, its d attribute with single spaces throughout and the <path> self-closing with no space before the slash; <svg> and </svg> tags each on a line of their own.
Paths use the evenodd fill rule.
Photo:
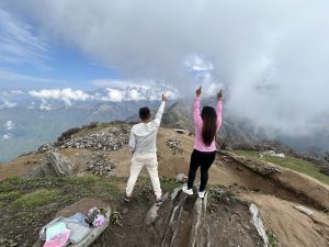
<svg viewBox="0 0 329 247">
<path fill-rule="evenodd" d="M 106 220 L 105 223 L 97 228 L 91 228 L 89 235 L 84 237 L 80 243 L 78 244 L 70 244 L 69 247 L 88 247 L 90 246 L 103 232 L 109 227 L 110 224 L 110 215 L 111 215 L 111 209 L 109 205 L 106 205 L 103 201 L 97 200 L 97 199 L 82 199 L 75 204 L 71 204 L 59 212 L 57 212 L 55 217 L 69 217 L 73 215 L 75 213 L 81 212 L 87 214 L 88 210 L 91 207 L 98 207 L 98 209 L 106 209 Z M 44 245 L 44 242 L 37 240 L 33 247 L 42 247 Z"/>
</svg>

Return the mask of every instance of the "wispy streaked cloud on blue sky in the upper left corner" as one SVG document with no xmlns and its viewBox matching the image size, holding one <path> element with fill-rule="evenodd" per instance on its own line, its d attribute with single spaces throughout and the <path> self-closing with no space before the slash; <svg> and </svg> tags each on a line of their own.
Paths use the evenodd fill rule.
<svg viewBox="0 0 329 247">
<path fill-rule="evenodd" d="M 0 9 L 0 61 L 43 66 L 48 46 L 33 33 L 33 27 Z"/>
</svg>

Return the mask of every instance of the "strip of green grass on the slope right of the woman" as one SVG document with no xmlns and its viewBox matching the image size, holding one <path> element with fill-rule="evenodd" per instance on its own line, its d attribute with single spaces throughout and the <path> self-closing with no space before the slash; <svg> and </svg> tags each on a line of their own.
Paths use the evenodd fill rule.
<svg viewBox="0 0 329 247">
<path fill-rule="evenodd" d="M 247 158 L 261 159 L 259 155 L 261 151 L 245 151 L 245 150 L 235 150 L 237 155 L 246 156 Z M 326 184 L 329 186 L 329 176 L 326 176 L 320 172 L 320 170 L 313 164 L 304 159 L 298 159 L 294 157 L 286 156 L 285 158 L 273 157 L 264 155 L 262 160 L 276 164 L 279 166 L 296 170 L 298 172 L 308 175 Z"/>
</svg>

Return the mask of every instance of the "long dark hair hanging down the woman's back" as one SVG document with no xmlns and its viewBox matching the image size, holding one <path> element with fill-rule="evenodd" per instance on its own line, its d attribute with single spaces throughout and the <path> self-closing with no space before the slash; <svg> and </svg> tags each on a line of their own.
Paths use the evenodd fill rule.
<svg viewBox="0 0 329 247">
<path fill-rule="evenodd" d="M 214 108 L 204 106 L 201 112 L 203 120 L 202 138 L 206 146 L 211 146 L 217 132 L 217 114 Z"/>
</svg>

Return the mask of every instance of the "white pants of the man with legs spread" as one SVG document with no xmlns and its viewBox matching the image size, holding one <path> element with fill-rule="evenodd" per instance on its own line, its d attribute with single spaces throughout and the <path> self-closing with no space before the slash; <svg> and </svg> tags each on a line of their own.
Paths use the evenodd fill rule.
<svg viewBox="0 0 329 247">
<path fill-rule="evenodd" d="M 157 199 L 161 198 L 162 191 L 158 176 L 158 160 L 156 154 L 137 155 L 132 158 L 131 176 L 126 187 L 126 195 L 131 197 L 141 168 L 146 166 L 152 182 L 154 191 Z"/>
</svg>

